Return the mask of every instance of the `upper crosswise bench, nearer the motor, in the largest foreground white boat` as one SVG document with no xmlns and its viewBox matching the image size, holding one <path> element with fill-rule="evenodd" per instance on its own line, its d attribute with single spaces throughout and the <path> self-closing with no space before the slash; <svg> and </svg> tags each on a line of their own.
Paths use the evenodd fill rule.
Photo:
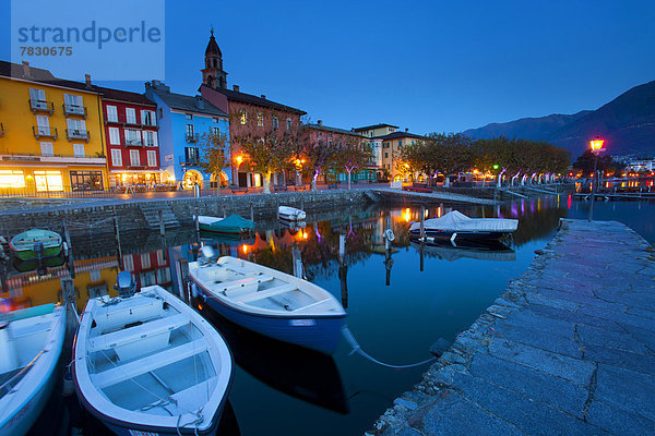
<svg viewBox="0 0 655 436">
<path fill-rule="evenodd" d="M 97 336 L 90 340 L 87 351 L 92 353 L 94 351 L 115 348 L 127 342 L 175 330 L 186 324 L 189 324 L 189 317 L 182 314 L 151 320 L 139 326 Z"/>
</svg>

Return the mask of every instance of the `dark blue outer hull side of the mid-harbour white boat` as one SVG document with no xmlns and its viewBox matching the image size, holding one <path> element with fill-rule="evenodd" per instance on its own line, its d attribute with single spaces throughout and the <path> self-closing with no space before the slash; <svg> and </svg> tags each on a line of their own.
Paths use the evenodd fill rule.
<svg viewBox="0 0 655 436">
<path fill-rule="evenodd" d="M 200 283 L 195 287 L 198 295 L 214 312 L 249 330 L 325 354 L 333 354 L 338 346 L 345 315 L 276 317 L 252 314 L 225 304 Z"/>
</svg>

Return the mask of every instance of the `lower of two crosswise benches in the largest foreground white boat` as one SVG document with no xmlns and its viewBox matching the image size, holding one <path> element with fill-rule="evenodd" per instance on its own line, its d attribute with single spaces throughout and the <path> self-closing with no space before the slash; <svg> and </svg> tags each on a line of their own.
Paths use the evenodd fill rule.
<svg viewBox="0 0 655 436">
<path fill-rule="evenodd" d="M 91 380 L 98 389 L 104 389 L 199 354 L 206 349 L 207 341 L 205 339 L 196 339 L 179 347 L 166 348 L 164 351 L 126 363 L 124 365 L 114 366 L 102 373 L 93 374 L 91 375 Z"/>
</svg>

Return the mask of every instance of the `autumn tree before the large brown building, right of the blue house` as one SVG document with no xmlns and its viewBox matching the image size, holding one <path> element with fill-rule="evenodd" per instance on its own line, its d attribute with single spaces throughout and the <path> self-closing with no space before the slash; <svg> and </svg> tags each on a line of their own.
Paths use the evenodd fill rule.
<svg viewBox="0 0 655 436">
<path fill-rule="evenodd" d="M 264 193 L 271 193 L 271 174 L 284 171 L 286 165 L 291 162 L 296 150 L 294 133 L 281 133 L 277 129 L 258 137 L 246 133 L 234 137 L 233 141 L 248 155 L 252 171 L 261 172 L 264 178 Z"/>
</svg>

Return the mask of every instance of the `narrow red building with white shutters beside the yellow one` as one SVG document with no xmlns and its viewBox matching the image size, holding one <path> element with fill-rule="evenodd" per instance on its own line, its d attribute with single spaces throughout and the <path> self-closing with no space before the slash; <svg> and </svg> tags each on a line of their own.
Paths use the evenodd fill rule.
<svg viewBox="0 0 655 436">
<path fill-rule="evenodd" d="M 157 105 L 141 94 L 98 89 L 105 118 L 109 185 L 154 187 L 160 181 Z"/>
</svg>

